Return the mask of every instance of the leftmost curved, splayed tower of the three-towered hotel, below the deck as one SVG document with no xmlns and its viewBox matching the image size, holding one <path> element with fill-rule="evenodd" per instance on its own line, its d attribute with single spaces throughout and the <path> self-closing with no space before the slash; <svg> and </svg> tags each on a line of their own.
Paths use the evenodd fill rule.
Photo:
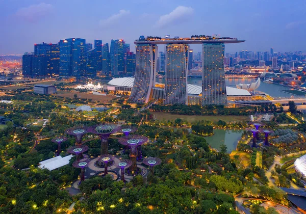
<svg viewBox="0 0 306 214">
<path fill-rule="evenodd" d="M 130 100 L 145 103 L 149 101 L 152 86 L 155 86 L 155 62 L 158 46 L 155 44 L 136 45 L 136 72 Z"/>
</svg>

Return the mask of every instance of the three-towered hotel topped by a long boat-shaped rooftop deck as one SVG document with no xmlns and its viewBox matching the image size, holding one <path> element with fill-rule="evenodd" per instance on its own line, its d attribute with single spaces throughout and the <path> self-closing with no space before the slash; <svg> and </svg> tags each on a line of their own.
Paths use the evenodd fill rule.
<svg viewBox="0 0 306 214">
<path fill-rule="evenodd" d="M 136 44 L 136 73 L 130 100 L 147 103 L 162 98 L 164 104 L 188 104 L 187 68 L 189 44 L 202 44 L 202 105 L 227 105 L 224 74 L 224 43 L 245 40 L 192 36 L 164 38 L 141 36 Z M 166 45 L 165 89 L 155 87 L 158 44 Z M 156 95 L 158 94 L 158 96 Z"/>
</svg>

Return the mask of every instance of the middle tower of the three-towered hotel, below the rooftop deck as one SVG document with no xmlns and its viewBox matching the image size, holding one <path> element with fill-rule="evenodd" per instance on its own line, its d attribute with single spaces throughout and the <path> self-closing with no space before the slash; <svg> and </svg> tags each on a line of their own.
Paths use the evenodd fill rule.
<svg viewBox="0 0 306 214">
<path fill-rule="evenodd" d="M 188 104 L 186 44 L 166 44 L 164 104 Z"/>
</svg>

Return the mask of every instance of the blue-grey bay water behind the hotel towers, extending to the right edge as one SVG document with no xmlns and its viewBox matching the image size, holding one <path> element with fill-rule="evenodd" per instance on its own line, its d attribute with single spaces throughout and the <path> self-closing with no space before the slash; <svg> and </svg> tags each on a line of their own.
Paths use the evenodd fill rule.
<svg viewBox="0 0 306 214">
<path fill-rule="evenodd" d="M 226 86 L 233 87 L 233 88 L 236 88 L 236 85 L 238 85 L 240 83 L 251 84 L 252 82 L 256 82 L 256 81 L 257 81 L 256 78 L 225 78 Z M 165 83 L 165 78 L 156 78 L 156 82 L 157 83 Z M 188 84 L 193 84 L 193 85 L 200 86 L 202 84 L 201 82 L 202 82 L 201 78 L 188 77 L 188 79 L 187 79 Z M 290 90 L 290 89 L 291 89 L 291 87 L 282 86 L 282 85 L 273 84 L 273 83 L 269 84 L 269 83 L 261 82 L 257 91 L 261 91 L 261 92 L 264 92 L 266 94 L 269 94 L 270 96 L 272 96 L 274 98 L 278 98 L 278 97 L 289 98 L 292 95 L 289 94 L 289 93 L 283 92 L 282 90 Z M 300 96 L 294 96 L 294 97 L 300 97 Z M 302 97 L 304 97 L 304 96 L 302 96 Z"/>
</svg>

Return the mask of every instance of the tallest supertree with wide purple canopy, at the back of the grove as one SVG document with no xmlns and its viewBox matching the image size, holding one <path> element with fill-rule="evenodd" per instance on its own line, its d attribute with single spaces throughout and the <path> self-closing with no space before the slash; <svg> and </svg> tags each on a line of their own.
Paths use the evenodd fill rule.
<svg viewBox="0 0 306 214">
<path fill-rule="evenodd" d="M 108 154 L 108 139 L 112 133 L 120 129 L 119 125 L 114 124 L 98 124 L 89 127 L 89 132 L 97 135 L 101 139 L 101 155 Z"/>
</svg>

